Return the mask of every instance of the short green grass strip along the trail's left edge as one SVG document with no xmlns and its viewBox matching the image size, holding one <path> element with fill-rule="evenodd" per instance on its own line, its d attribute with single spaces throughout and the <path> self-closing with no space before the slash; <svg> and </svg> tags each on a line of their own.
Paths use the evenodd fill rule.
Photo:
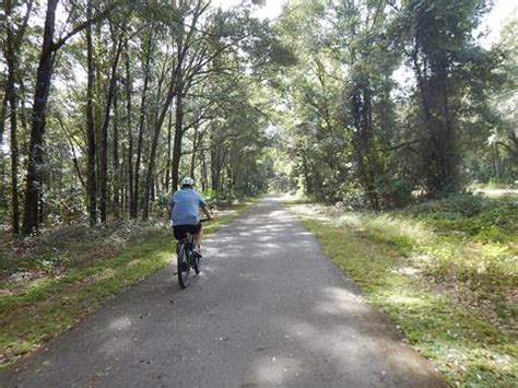
<svg viewBox="0 0 518 388">
<path fill-rule="evenodd" d="M 204 226 L 210 234 L 255 201 L 245 202 Z M 173 259 L 175 242 L 167 230 L 136 239 L 111 258 L 95 260 L 56 277 L 28 282 L 12 295 L 0 295 L 0 368 L 96 311 L 129 286 Z M 174 281 L 174 280 L 170 280 Z"/>
</svg>

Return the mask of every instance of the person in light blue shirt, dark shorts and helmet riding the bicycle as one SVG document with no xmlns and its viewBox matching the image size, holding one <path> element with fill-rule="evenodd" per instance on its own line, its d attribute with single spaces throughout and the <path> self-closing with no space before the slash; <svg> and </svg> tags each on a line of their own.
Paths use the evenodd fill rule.
<svg viewBox="0 0 518 388">
<path fill-rule="evenodd" d="M 180 240 L 186 233 L 195 235 L 195 249 L 201 256 L 201 223 L 198 217 L 199 209 L 207 215 L 209 220 L 212 214 L 209 211 L 203 197 L 193 190 L 195 180 L 186 177 L 181 181 L 181 189 L 176 191 L 169 201 L 170 216 L 173 220 L 173 232 L 175 238 Z"/>
</svg>

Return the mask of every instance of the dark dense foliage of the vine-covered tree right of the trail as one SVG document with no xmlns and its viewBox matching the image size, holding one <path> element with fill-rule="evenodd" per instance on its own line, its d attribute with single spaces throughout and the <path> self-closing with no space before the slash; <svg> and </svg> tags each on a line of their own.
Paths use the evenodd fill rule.
<svg viewBox="0 0 518 388">
<path fill-rule="evenodd" d="M 486 10 L 487 2 L 481 0 L 410 0 L 397 19 L 407 63 L 417 83 L 413 103 L 420 111 L 412 132 L 420 138 L 422 157 L 415 174 L 428 197 L 462 187 L 461 158 L 469 142 L 463 133 L 473 137 L 474 115 L 479 124 L 485 121 L 479 128 L 485 139 L 488 136 L 485 89 L 495 63 L 472 34 Z"/>
</svg>

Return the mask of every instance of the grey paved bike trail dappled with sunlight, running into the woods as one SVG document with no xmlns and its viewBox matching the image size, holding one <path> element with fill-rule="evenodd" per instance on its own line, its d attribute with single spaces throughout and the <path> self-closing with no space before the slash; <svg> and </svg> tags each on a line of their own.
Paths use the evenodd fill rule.
<svg viewBox="0 0 518 388">
<path fill-rule="evenodd" d="M 443 387 L 275 199 L 0 374 L 2 387 Z"/>
</svg>

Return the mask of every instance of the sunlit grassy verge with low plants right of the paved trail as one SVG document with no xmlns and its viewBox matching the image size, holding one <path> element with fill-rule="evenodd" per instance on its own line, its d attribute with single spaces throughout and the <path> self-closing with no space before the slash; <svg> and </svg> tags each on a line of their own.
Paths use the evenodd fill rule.
<svg viewBox="0 0 518 388">
<path fill-rule="evenodd" d="M 518 199 L 460 196 L 389 213 L 292 208 L 449 384 L 518 385 Z"/>
</svg>

